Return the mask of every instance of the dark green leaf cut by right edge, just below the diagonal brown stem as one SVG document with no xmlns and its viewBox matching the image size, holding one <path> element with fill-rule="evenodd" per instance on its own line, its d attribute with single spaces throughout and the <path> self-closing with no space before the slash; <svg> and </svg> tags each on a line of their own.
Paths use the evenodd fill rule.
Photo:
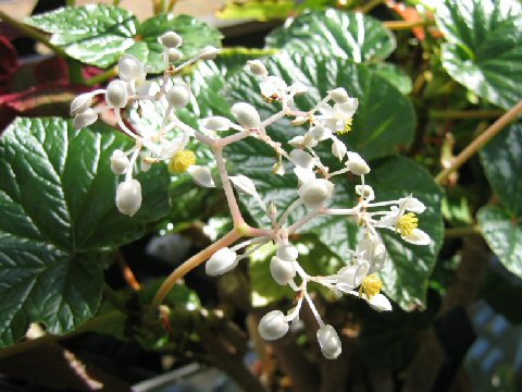
<svg viewBox="0 0 522 392">
<path fill-rule="evenodd" d="M 480 151 L 484 172 L 504 207 L 514 217 L 522 212 L 522 124 L 513 124 Z"/>
</svg>

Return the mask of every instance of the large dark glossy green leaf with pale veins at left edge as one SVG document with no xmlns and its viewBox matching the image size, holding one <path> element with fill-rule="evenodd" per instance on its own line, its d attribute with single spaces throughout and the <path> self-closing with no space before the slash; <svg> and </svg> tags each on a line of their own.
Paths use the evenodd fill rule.
<svg viewBox="0 0 522 392">
<path fill-rule="evenodd" d="M 138 175 L 134 218 L 115 208 L 110 156 L 126 138 L 103 125 L 18 119 L 0 139 L 0 345 L 30 322 L 51 333 L 77 328 L 98 308 L 105 250 L 139 238 L 167 212 L 164 167 Z"/>
</svg>

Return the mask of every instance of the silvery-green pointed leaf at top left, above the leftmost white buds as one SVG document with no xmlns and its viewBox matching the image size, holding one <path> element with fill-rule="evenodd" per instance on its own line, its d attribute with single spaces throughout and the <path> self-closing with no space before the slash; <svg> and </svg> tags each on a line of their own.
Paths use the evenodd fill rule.
<svg viewBox="0 0 522 392">
<path fill-rule="evenodd" d="M 166 32 L 175 30 L 184 39 L 184 59 L 208 45 L 221 46 L 222 38 L 217 29 L 190 16 L 159 15 L 140 24 L 130 12 L 107 4 L 61 8 L 25 22 L 51 33 L 52 44 L 84 63 L 108 68 L 128 52 L 148 65 L 151 73 L 163 71 L 164 48 L 158 37 Z"/>
</svg>

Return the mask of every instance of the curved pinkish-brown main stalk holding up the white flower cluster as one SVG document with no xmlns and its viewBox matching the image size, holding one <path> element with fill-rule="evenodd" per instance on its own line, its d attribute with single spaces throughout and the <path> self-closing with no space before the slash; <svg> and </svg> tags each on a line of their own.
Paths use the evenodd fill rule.
<svg viewBox="0 0 522 392">
<path fill-rule="evenodd" d="M 174 271 L 172 271 L 172 273 L 165 279 L 163 284 L 156 293 L 154 298 L 150 303 L 149 315 L 147 316 L 156 318 L 156 310 L 158 309 L 158 306 L 161 305 L 165 296 L 181 278 L 185 277 L 185 274 L 198 267 L 200 264 L 207 261 L 214 253 L 225 246 L 233 244 L 241 236 L 243 235 L 239 233 L 238 230 L 233 229 L 224 237 L 208 246 L 197 255 L 194 255 L 179 267 L 177 267 Z"/>
</svg>

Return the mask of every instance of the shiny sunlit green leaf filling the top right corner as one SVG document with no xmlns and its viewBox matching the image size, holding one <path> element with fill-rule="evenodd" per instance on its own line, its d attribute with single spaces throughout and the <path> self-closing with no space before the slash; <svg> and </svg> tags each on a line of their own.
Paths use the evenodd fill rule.
<svg viewBox="0 0 522 392">
<path fill-rule="evenodd" d="M 447 0 L 437 24 L 442 59 L 457 82 L 508 109 L 522 98 L 522 17 L 514 0 Z"/>
</svg>

